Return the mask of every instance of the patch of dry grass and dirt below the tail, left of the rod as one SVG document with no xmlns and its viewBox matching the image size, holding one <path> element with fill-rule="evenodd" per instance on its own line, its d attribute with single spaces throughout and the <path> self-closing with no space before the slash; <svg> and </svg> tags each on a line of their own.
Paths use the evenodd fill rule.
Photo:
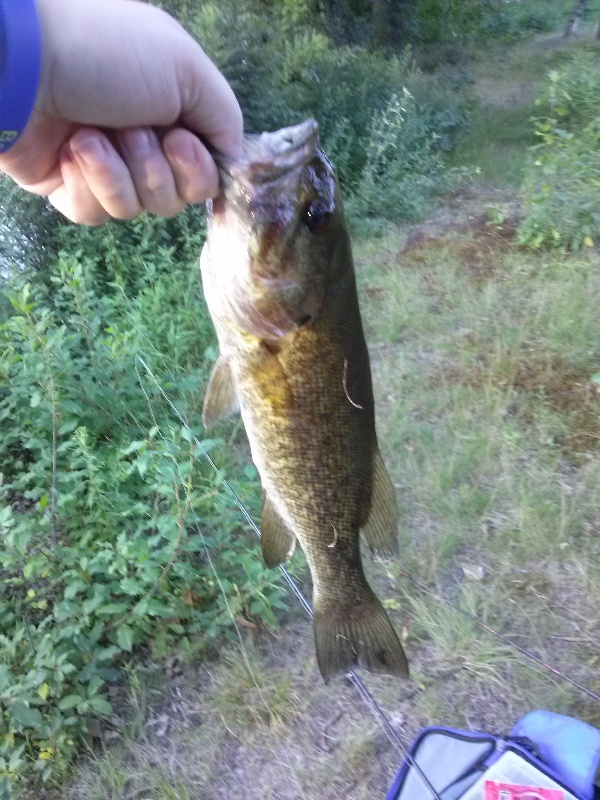
<svg viewBox="0 0 600 800">
<path fill-rule="evenodd" d="M 122 737 L 84 759 L 67 796 L 381 795 L 393 753 L 383 747 L 377 724 L 350 686 L 342 682 L 334 692 L 324 687 L 312 654 L 305 655 L 311 636 L 308 622 L 291 620 L 285 640 L 252 634 L 245 641 L 250 672 L 239 652 L 188 667 L 152 693 L 135 737 Z M 378 774 L 372 764 L 382 760 L 386 769 Z"/>
</svg>

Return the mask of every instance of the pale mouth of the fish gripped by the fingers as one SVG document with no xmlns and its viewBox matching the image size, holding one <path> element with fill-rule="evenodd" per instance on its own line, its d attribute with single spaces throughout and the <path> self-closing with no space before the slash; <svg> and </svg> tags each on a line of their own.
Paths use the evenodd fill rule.
<svg viewBox="0 0 600 800">
<path fill-rule="evenodd" d="M 237 159 L 215 154 L 221 189 L 228 195 L 234 184 L 260 186 L 283 178 L 308 164 L 319 147 L 319 125 L 307 119 L 274 133 L 247 134 Z"/>
</svg>

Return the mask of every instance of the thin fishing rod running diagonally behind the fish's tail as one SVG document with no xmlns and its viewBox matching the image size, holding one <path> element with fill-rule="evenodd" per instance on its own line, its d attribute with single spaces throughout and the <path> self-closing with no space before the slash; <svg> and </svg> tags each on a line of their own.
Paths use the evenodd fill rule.
<svg viewBox="0 0 600 800">
<path fill-rule="evenodd" d="M 202 443 L 198 440 L 198 438 L 196 437 L 196 435 L 194 434 L 194 432 L 192 431 L 192 429 L 190 428 L 190 426 L 186 422 L 186 420 L 183 417 L 183 415 L 180 413 L 179 409 L 173 403 L 171 398 L 164 391 L 164 389 L 162 388 L 162 386 L 158 382 L 158 379 L 156 378 L 156 376 L 154 375 L 154 373 L 152 372 L 150 367 L 146 364 L 146 362 L 139 355 L 139 353 L 137 353 L 136 356 L 135 356 L 135 371 L 136 371 L 136 375 L 138 377 L 138 381 L 139 381 L 140 387 L 142 389 L 142 392 L 144 393 L 144 396 L 145 396 L 145 398 L 146 398 L 146 400 L 148 402 L 148 405 L 149 405 L 149 408 L 150 408 L 150 414 L 152 416 L 152 421 L 154 422 L 155 426 L 157 428 L 159 427 L 158 424 L 157 424 L 157 421 L 156 421 L 156 417 L 154 415 L 154 411 L 152 410 L 152 405 L 150 403 L 150 398 L 148 397 L 148 394 L 147 394 L 147 392 L 146 392 L 146 390 L 144 388 L 144 385 L 143 385 L 143 382 L 142 382 L 142 377 L 141 377 L 141 375 L 139 373 L 139 370 L 138 370 L 138 363 L 141 364 L 144 367 L 144 369 L 146 370 L 146 372 L 148 373 L 148 375 L 152 379 L 153 383 L 155 384 L 156 388 L 158 389 L 158 391 L 160 392 L 160 394 L 162 395 L 164 400 L 167 402 L 167 404 L 169 405 L 171 410 L 177 416 L 177 419 L 181 422 L 181 424 L 184 426 L 184 428 L 186 430 L 190 431 L 190 433 L 192 434 L 194 443 L 196 444 L 198 449 L 202 452 L 202 454 L 204 455 L 204 457 L 206 458 L 206 460 L 208 461 L 210 466 L 213 468 L 213 470 L 216 472 L 217 475 L 220 475 L 221 472 L 220 472 L 219 468 L 217 467 L 217 465 L 215 464 L 215 462 L 213 461 L 213 459 L 211 458 L 210 454 L 204 449 L 204 447 L 202 446 Z M 252 528 L 254 533 L 260 538 L 261 537 L 260 528 L 258 527 L 256 522 L 254 521 L 254 519 L 250 515 L 250 512 L 247 510 L 247 508 L 245 507 L 245 505 L 242 502 L 242 500 L 238 497 L 238 494 L 235 491 L 235 489 L 233 488 L 233 486 L 231 486 L 231 484 L 225 478 L 222 478 L 221 481 L 223 483 L 223 486 L 225 486 L 227 491 L 231 494 L 231 496 L 235 500 L 238 508 L 240 509 L 242 514 L 244 515 L 246 521 L 248 522 L 248 524 L 250 525 L 250 527 Z M 212 564 L 212 562 L 211 562 L 211 564 Z M 298 586 L 296 581 L 290 575 L 289 571 L 286 569 L 286 567 L 283 564 L 279 565 L 279 570 L 281 571 L 283 577 L 285 578 L 285 580 L 286 580 L 287 584 L 289 585 L 289 587 L 291 588 L 292 592 L 295 594 L 295 596 L 298 599 L 298 601 L 299 601 L 300 605 L 302 606 L 302 608 L 305 610 L 305 612 L 308 614 L 308 616 L 311 619 L 314 619 L 314 613 L 313 613 L 313 610 L 312 610 L 312 607 L 311 607 L 310 603 L 308 602 L 308 600 L 306 599 L 306 597 L 304 596 L 304 594 L 300 590 L 300 587 Z M 237 626 L 236 626 L 236 628 L 237 628 Z M 371 711 L 371 713 L 378 719 L 378 721 L 379 721 L 381 727 L 383 728 L 383 730 L 384 730 L 386 736 L 388 737 L 388 739 L 392 742 L 392 744 L 394 744 L 397 747 L 397 749 L 399 750 L 401 755 L 408 761 L 408 763 L 411 765 L 411 767 L 414 768 L 415 772 L 419 776 L 419 778 L 422 781 L 423 785 L 431 793 L 431 796 L 432 796 L 433 800 L 442 800 L 440 795 L 439 795 L 439 793 L 436 791 L 435 787 L 432 785 L 432 783 L 429 780 L 429 778 L 427 777 L 427 775 L 425 775 L 425 773 L 423 772 L 423 770 L 421 769 L 419 764 L 415 761 L 415 759 L 409 753 L 408 748 L 406 747 L 406 745 L 402 741 L 402 739 L 399 736 L 398 732 L 392 726 L 392 724 L 389 721 L 385 711 L 381 708 L 381 706 L 375 700 L 375 698 L 373 697 L 373 695 L 371 694 L 371 692 L 369 691 L 369 689 L 365 685 L 365 683 L 362 680 L 362 678 L 360 678 L 356 674 L 356 672 L 354 670 L 349 670 L 349 672 L 346 674 L 346 678 L 353 684 L 353 686 L 356 687 L 358 693 L 362 697 L 362 699 L 365 702 L 365 704 L 368 706 L 368 708 Z"/>
</svg>

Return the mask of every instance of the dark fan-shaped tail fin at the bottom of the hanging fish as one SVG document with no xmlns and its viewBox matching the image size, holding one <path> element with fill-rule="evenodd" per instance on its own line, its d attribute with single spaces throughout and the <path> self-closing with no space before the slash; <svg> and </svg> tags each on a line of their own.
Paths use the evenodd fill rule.
<svg viewBox="0 0 600 800">
<path fill-rule="evenodd" d="M 371 672 L 408 677 L 408 662 L 383 606 L 372 594 L 360 606 L 319 609 L 315 602 L 317 663 L 325 683 L 358 665 Z"/>
</svg>

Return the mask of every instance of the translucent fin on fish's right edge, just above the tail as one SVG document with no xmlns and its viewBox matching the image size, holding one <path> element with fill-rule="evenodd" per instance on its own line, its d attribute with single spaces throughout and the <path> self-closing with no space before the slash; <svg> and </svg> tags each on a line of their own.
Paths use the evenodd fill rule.
<svg viewBox="0 0 600 800">
<path fill-rule="evenodd" d="M 374 555 L 392 558 L 398 554 L 398 515 L 394 487 L 377 447 L 373 455 L 371 509 L 362 532 Z"/>
</svg>

